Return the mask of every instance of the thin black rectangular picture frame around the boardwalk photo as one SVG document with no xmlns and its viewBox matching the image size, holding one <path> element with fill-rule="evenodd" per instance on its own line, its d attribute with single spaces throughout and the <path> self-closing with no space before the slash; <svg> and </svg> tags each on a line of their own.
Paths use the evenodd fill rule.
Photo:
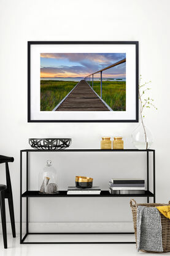
<svg viewBox="0 0 170 256">
<path fill-rule="evenodd" d="M 31 119 L 31 45 L 33 44 L 134 44 L 136 47 L 136 118 L 133 120 L 32 120 Z M 137 123 L 139 122 L 139 41 L 28 41 L 28 123 Z"/>
</svg>

